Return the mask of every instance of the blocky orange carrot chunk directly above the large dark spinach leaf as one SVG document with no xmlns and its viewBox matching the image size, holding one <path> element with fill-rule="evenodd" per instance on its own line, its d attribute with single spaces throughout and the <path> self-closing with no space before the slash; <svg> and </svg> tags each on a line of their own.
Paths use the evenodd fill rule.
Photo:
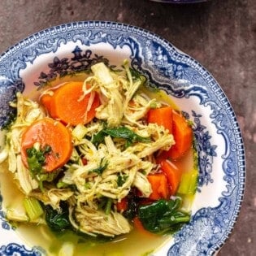
<svg viewBox="0 0 256 256">
<path fill-rule="evenodd" d="M 149 175 L 147 179 L 150 181 L 152 189 L 149 199 L 158 200 L 161 198 L 167 199 L 169 197 L 167 177 L 163 173 Z"/>
</svg>

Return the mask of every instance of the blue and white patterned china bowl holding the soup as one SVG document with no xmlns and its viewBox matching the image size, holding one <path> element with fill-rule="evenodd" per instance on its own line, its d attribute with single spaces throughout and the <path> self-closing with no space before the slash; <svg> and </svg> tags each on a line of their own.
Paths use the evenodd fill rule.
<svg viewBox="0 0 256 256">
<path fill-rule="evenodd" d="M 154 256 L 213 255 L 236 223 L 245 189 L 245 152 L 228 98 L 213 76 L 170 42 L 142 28 L 108 21 L 81 21 L 47 28 L 0 56 L 0 126 L 11 115 L 15 93 L 82 71 L 104 60 L 131 61 L 154 85 L 169 93 L 189 119 L 198 142 L 200 177 L 192 219 Z M 1 182 L 1 181 L 0 181 Z M 0 255 L 41 255 L 24 244 L 5 219 L 0 196 Z"/>
</svg>

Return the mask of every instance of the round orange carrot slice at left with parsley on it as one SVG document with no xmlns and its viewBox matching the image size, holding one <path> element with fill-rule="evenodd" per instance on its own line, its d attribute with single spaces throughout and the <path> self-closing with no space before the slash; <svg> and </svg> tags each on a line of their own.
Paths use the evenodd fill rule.
<svg viewBox="0 0 256 256">
<path fill-rule="evenodd" d="M 37 120 L 31 124 L 21 137 L 21 157 L 28 167 L 27 149 L 39 142 L 41 147 L 50 145 L 51 151 L 46 154 L 45 171 L 54 171 L 67 163 L 72 155 L 71 132 L 59 121 L 50 118 Z"/>
</svg>

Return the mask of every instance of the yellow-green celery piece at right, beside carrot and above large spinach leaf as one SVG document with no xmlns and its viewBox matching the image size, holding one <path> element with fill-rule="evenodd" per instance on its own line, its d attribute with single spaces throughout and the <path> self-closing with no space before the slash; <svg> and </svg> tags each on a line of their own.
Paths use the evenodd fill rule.
<svg viewBox="0 0 256 256">
<path fill-rule="evenodd" d="M 178 193 L 185 195 L 193 195 L 197 190 L 197 170 L 185 172 L 181 176 Z"/>
</svg>

